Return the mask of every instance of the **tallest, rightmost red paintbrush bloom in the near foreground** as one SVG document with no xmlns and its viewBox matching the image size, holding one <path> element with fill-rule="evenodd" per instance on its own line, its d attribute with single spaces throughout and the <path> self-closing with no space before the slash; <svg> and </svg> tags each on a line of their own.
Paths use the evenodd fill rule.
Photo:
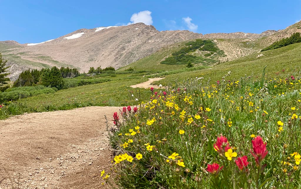
<svg viewBox="0 0 301 189">
<path fill-rule="evenodd" d="M 268 154 L 266 150 L 266 143 L 263 143 L 262 138 L 257 136 L 252 140 L 253 152 L 250 150 L 251 154 L 255 158 L 256 166 L 259 167 L 261 161 Z"/>
</svg>

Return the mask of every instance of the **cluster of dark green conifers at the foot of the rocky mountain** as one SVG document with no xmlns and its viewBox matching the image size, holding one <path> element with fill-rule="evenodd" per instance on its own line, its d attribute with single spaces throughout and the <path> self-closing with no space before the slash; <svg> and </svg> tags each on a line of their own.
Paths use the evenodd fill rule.
<svg viewBox="0 0 301 189">
<path fill-rule="evenodd" d="M 56 66 L 43 68 L 41 70 L 24 70 L 20 73 L 18 79 L 14 82 L 14 87 L 44 85 L 61 89 L 64 86 L 63 78 L 77 77 L 79 71 L 77 68 L 61 67 L 58 69 Z"/>
</svg>

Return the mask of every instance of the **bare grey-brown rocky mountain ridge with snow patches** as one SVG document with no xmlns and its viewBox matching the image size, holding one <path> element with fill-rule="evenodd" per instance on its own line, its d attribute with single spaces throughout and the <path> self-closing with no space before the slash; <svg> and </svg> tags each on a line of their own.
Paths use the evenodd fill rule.
<svg viewBox="0 0 301 189">
<path fill-rule="evenodd" d="M 236 32 L 202 35 L 187 30 L 159 32 L 154 26 L 136 23 L 79 29 L 40 44 L 0 41 L 0 52 L 8 60 L 11 66 L 9 77 L 14 80 L 22 70 L 28 68 L 69 66 L 78 67 L 80 72 L 87 72 L 92 66 L 119 68 L 151 55 L 163 46 L 196 38 L 217 39 L 215 42 L 227 55 L 222 61 L 228 61 L 257 52 L 293 32 L 301 32 L 300 26 L 301 22 L 297 22 L 284 30 L 268 30 L 261 34 Z"/>
</svg>

